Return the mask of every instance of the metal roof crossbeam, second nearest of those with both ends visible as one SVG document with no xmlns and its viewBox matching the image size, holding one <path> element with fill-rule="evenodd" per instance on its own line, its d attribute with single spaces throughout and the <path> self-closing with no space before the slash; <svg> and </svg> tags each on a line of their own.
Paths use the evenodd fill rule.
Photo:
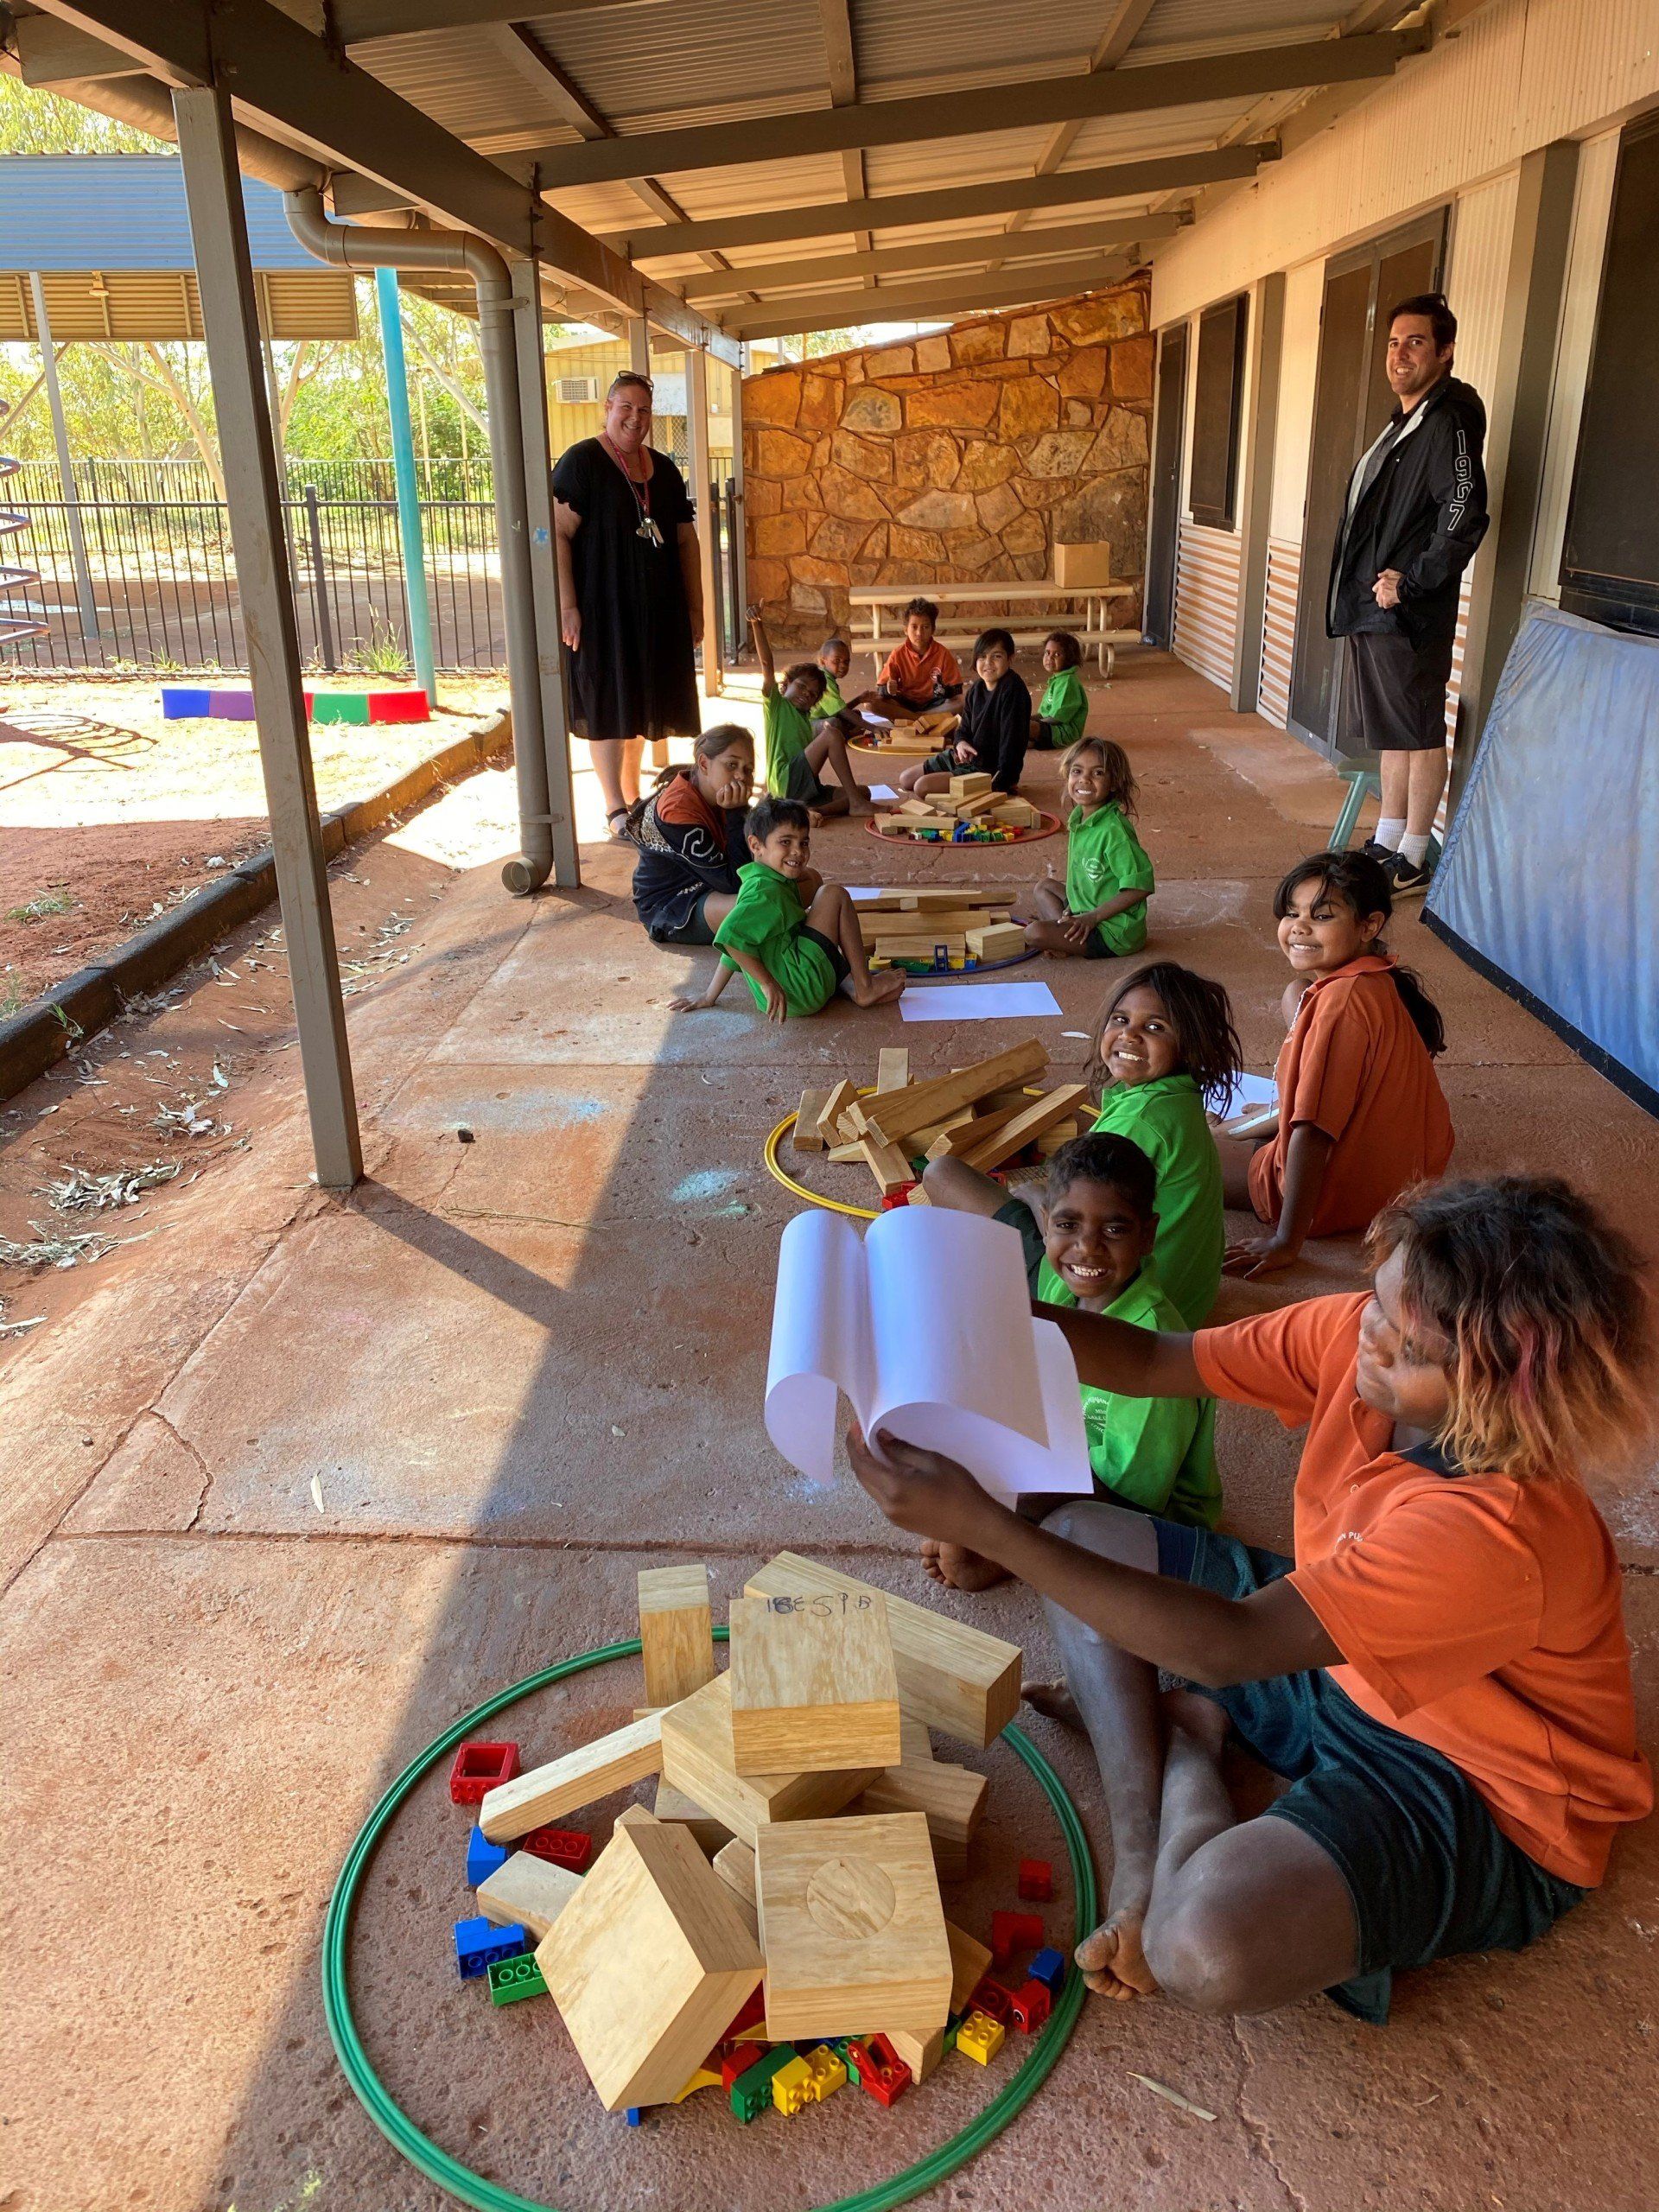
<svg viewBox="0 0 1659 2212">
<path fill-rule="evenodd" d="M 933 192 L 891 192 L 885 199 L 823 199 L 810 208 L 765 208 L 668 230 L 613 230 L 606 246 L 635 261 L 666 261 L 706 246 L 783 246 L 794 239 L 845 237 L 849 230 L 909 230 L 920 223 L 960 223 L 1011 208 L 1073 208 L 1091 199 L 1139 199 L 1172 186 L 1228 184 L 1254 177 L 1261 161 L 1276 161 L 1276 146 L 1223 146 L 1115 161 L 1110 168 L 1073 168 L 1062 177 L 1002 177 Z"/>
</svg>

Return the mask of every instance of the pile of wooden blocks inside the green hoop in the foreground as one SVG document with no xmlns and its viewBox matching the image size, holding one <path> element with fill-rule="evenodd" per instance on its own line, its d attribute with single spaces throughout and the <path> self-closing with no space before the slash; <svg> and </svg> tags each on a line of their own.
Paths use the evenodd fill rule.
<svg viewBox="0 0 1659 2212">
<path fill-rule="evenodd" d="M 925 2079 L 991 1962 L 940 1902 L 987 1781 L 936 1761 L 929 1730 L 993 1743 L 1020 1703 L 1018 1648 L 787 1551 L 732 1601 L 728 1672 L 703 1566 L 641 1573 L 639 1637 L 639 1717 L 478 1809 L 507 1845 L 659 1778 L 655 1812 L 624 1812 L 586 1874 L 518 1849 L 478 1887 L 495 1929 L 535 1940 L 606 2110 L 730 2088 L 734 2039 L 768 2084 L 787 2068 L 781 2110 L 847 2077 L 845 2057 L 761 2051 L 796 2037 L 852 2037 L 865 2064 L 885 2037 L 883 2073 L 891 2051 Z M 978 2026 L 962 2048 L 989 2055 Z"/>
</svg>

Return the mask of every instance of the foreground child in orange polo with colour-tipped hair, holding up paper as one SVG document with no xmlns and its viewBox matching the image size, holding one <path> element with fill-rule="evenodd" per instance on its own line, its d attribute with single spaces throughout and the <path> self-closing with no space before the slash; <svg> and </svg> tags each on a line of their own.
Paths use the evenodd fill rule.
<svg viewBox="0 0 1659 2212">
<path fill-rule="evenodd" d="M 1042 1593 L 1031 1703 L 1095 1745 L 1113 1825 L 1091 1989 L 1383 2022 L 1394 1971 L 1520 1949 L 1652 1805 L 1619 1562 L 1579 1469 L 1650 1429 L 1641 1263 L 1566 1183 L 1442 1183 L 1371 1228 L 1369 1294 L 1197 1336 L 1040 1307 L 1077 1376 L 1307 1425 L 1296 1555 L 1106 1502 L 1042 1526 L 936 1453 L 849 1438 L 891 1522 Z M 1159 1699 L 1157 1670 L 1186 1688 Z M 1290 1787 L 1237 1820 L 1232 1728 Z"/>
</svg>

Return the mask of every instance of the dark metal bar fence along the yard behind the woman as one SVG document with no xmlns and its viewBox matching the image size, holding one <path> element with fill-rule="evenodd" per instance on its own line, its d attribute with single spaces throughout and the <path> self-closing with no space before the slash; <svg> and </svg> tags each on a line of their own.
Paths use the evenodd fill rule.
<svg viewBox="0 0 1659 2212">
<path fill-rule="evenodd" d="M 714 522 L 723 611 L 734 560 L 726 491 L 714 462 Z M 495 504 L 487 456 L 418 460 L 427 540 L 427 602 L 440 668 L 500 668 Z M 199 460 L 82 460 L 75 500 L 51 462 L 24 462 L 7 507 L 27 518 L 11 546 L 35 571 L 27 593 L 0 591 L 0 626 L 24 608 L 44 624 L 4 659 L 27 668 L 246 668 L 230 515 Z M 283 515 L 294 613 L 307 668 L 389 675 L 409 664 L 409 606 L 389 460 L 290 460 Z M 95 630 L 82 622 L 73 522 L 80 520 Z M 730 619 L 723 624 L 730 630 Z"/>
</svg>

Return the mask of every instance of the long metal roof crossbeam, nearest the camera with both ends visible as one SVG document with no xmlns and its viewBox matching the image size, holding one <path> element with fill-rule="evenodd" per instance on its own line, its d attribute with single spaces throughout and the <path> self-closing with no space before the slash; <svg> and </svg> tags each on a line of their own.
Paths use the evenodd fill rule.
<svg viewBox="0 0 1659 2212">
<path fill-rule="evenodd" d="M 53 0 L 53 7 L 64 0 Z M 84 0 L 82 0 L 84 4 Z M 104 0 L 108 4 L 108 0 Z M 922 100 L 876 100 L 852 108 L 759 115 L 750 122 L 641 131 L 602 146 L 538 146 L 542 190 L 615 184 L 624 177 L 672 177 L 686 170 L 743 168 L 752 161 L 799 161 L 814 153 L 867 146 L 914 146 L 931 139 L 1024 131 L 1033 124 L 1099 115 L 1146 115 L 1210 100 L 1252 100 L 1292 86 L 1387 77 L 1429 44 L 1427 31 L 1374 38 L 1318 38 L 1294 46 L 1245 46 L 1194 62 L 1148 62 L 1099 75 L 1037 77 L 973 93 L 929 93 Z"/>
</svg>

